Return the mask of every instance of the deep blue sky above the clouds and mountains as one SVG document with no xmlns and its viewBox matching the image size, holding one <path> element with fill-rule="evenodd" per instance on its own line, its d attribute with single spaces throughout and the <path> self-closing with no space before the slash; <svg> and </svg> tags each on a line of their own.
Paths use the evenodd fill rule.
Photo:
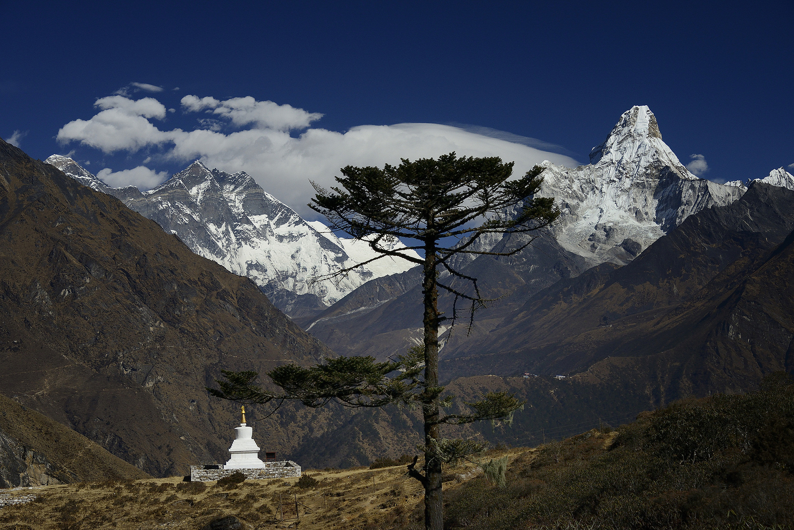
<svg viewBox="0 0 794 530">
<path fill-rule="evenodd" d="M 159 102 L 164 113 L 148 120 L 162 131 L 244 132 L 250 123 L 215 110 L 250 97 L 294 121 L 282 136 L 306 132 L 301 119 L 339 134 L 465 125 L 542 140 L 524 141 L 580 163 L 621 113 L 648 105 L 682 162 L 703 156 L 705 178 L 794 163 L 792 2 L 6 2 L 3 13 L 0 136 L 35 158 L 73 151 L 94 173 L 143 165 L 156 179 L 186 165 L 162 145 L 108 152 L 56 140 L 114 94 Z M 188 112 L 187 95 L 214 103 Z M 395 145 L 398 156 L 407 144 Z"/>
</svg>

